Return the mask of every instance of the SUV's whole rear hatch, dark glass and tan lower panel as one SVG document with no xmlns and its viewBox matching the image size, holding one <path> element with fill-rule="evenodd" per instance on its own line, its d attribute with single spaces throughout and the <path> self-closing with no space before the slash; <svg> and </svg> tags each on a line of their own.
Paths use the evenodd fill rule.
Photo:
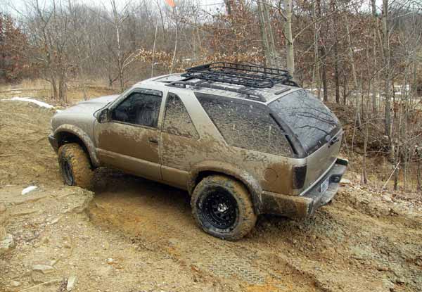
<svg viewBox="0 0 422 292">
<path fill-rule="evenodd" d="M 269 108 L 290 127 L 305 153 L 303 189 L 307 189 L 328 171 L 340 152 L 340 122 L 324 103 L 304 89 L 281 96 L 269 103 Z"/>
</svg>

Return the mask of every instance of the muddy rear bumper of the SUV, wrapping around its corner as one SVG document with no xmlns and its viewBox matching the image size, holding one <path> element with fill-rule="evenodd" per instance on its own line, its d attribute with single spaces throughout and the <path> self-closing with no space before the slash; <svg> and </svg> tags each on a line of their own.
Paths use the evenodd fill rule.
<svg viewBox="0 0 422 292">
<path fill-rule="evenodd" d="M 302 196 L 286 196 L 280 193 L 262 192 L 262 213 L 286 217 L 305 218 L 312 216 L 316 209 L 326 205 L 335 196 L 340 179 L 346 171 L 348 161 L 338 158 L 331 170 Z M 319 191 L 321 182 L 329 177 L 328 189 Z"/>
</svg>

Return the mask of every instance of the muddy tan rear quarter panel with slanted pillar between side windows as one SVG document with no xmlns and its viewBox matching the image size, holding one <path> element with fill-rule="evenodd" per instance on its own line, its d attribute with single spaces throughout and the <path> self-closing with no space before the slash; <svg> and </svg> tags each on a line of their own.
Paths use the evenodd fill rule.
<svg viewBox="0 0 422 292">
<path fill-rule="evenodd" d="M 208 118 L 193 91 L 172 88 L 170 92 L 177 94 L 184 102 L 200 138 L 189 139 L 162 132 L 163 179 L 167 181 L 174 179 L 170 177 L 174 172 L 169 172 L 168 177 L 165 177 L 167 167 L 174 167 L 184 172 L 178 174 L 178 179 L 184 180 L 188 179 L 190 174 L 196 173 L 197 168 L 205 170 L 204 162 L 206 162 L 210 170 L 226 171 L 229 175 L 248 173 L 263 190 L 293 194 L 292 167 L 305 164 L 305 159 L 286 158 L 229 146 Z M 248 133 L 239 134 L 248 135 Z"/>
</svg>

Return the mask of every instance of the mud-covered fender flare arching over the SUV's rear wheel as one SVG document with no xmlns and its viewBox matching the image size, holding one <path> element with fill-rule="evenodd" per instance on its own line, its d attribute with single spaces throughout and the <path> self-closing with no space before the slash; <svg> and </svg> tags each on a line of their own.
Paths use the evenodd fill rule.
<svg viewBox="0 0 422 292">
<path fill-rule="evenodd" d="M 191 171 L 189 172 L 187 185 L 189 194 L 192 194 L 193 189 L 195 189 L 196 181 L 198 177 L 200 177 L 201 172 L 215 172 L 218 174 L 224 174 L 229 177 L 234 177 L 234 179 L 237 179 L 238 181 L 245 184 L 246 188 L 250 192 L 256 214 L 259 215 L 261 213 L 262 188 L 259 182 L 254 177 L 252 177 L 250 173 L 230 163 L 212 160 L 202 161 L 197 165 L 193 165 L 193 167 L 191 167 Z"/>
</svg>

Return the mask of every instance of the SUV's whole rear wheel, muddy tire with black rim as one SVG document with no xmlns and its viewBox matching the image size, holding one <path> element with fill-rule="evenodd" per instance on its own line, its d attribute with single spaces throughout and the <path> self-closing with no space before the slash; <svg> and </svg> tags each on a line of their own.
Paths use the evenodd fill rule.
<svg viewBox="0 0 422 292">
<path fill-rule="evenodd" d="M 193 191 L 191 205 L 197 224 L 219 239 L 241 239 L 257 221 L 248 189 L 223 175 L 205 177 Z"/>
</svg>

